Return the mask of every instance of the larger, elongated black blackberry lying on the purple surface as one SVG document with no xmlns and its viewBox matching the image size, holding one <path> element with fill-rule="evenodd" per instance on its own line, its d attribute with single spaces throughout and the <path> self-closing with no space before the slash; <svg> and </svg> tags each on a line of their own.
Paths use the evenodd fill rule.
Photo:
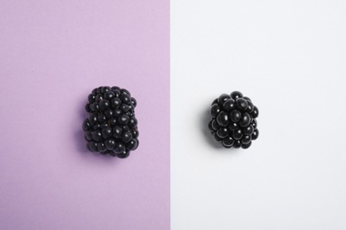
<svg viewBox="0 0 346 230">
<path fill-rule="evenodd" d="M 83 121 L 86 148 L 101 155 L 129 157 L 139 143 L 136 105 L 136 99 L 125 88 L 94 88 L 85 105 L 89 113 Z"/>
</svg>

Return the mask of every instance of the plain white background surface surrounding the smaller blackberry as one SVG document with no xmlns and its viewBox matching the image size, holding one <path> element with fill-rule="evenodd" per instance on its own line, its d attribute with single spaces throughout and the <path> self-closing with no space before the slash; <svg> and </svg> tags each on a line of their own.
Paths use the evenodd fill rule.
<svg viewBox="0 0 346 230">
<path fill-rule="evenodd" d="M 345 229 L 346 2 L 171 0 L 171 226 Z M 208 109 L 259 108 L 250 149 Z"/>
</svg>

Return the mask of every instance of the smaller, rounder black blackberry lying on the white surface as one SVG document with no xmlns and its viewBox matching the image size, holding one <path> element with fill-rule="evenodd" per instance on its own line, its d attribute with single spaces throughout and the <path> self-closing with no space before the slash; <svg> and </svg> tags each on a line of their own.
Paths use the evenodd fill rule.
<svg viewBox="0 0 346 230">
<path fill-rule="evenodd" d="M 248 149 L 258 138 L 258 108 L 239 91 L 216 98 L 209 112 L 208 129 L 224 148 Z M 90 138 L 90 134 L 86 138 Z"/>
</svg>

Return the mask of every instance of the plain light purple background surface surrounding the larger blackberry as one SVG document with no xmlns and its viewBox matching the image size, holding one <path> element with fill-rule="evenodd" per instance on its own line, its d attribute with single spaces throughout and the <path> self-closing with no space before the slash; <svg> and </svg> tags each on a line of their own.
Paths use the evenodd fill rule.
<svg viewBox="0 0 346 230">
<path fill-rule="evenodd" d="M 169 229 L 169 1 L 2 1 L 0 228 Z M 92 88 L 138 99 L 127 159 L 84 148 Z"/>
</svg>

